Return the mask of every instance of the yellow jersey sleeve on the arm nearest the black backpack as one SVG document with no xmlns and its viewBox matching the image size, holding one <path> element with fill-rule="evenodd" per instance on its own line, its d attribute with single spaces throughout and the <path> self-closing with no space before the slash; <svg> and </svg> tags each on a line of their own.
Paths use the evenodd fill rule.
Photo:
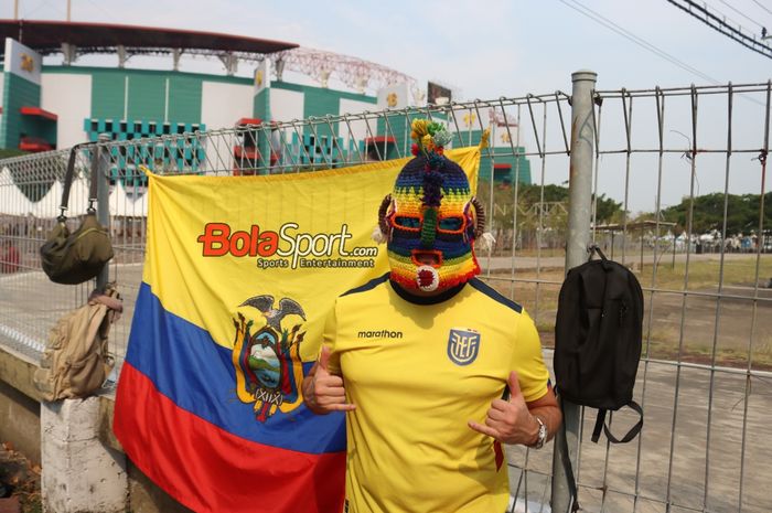
<svg viewBox="0 0 772 513">
<path fill-rule="evenodd" d="M 526 403 L 540 399 L 547 393 L 549 371 L 542 355 L 542 341 L 530 316 L 525 310 L 517 321 L 511 368 L 517 372 Z"/>
</svg>

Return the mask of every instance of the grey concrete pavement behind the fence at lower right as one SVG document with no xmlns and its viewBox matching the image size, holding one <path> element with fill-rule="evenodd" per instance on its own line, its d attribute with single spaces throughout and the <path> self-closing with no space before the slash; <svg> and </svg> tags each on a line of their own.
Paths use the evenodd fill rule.
<svg viewBox="0 0 772 513">
<path fill-rule="evenodd" d="M 742 493 L 743 512 L 772 512 L 772 373 L 749 377 L 735 371 L 642 363 L 635 399 L 644 407 L 645 423 L 640 439 L 626 445 L 607 447 L 604 438 L 598 445 L 589 441 L 596 410 L 587 409 L 579 477 L 585 511 L 599 512 L 603 505 L 609 513 L 633 507 L 664 513 L 669 498 L 678 506 L 671 512 L 736 513 Z M 634 415 L 622 410 L 614 416 L 612 431 L 619 437 L 634 421 Z M 517 467 L 549 473 L 551 445 L 549 450 L 528 451 L 527 464 L 521 448 L 510 449 L 508 457 Z M 521 474 L 510 470 L 512 490 L 517 490 Z M 546 479 L 535 472 L 527 475 L 528 499 L 548 498 Z M 519 490 L 523 495 L 522 481 Z M 645 499 L 634 506 L 636 490 Z"/>
</svg>

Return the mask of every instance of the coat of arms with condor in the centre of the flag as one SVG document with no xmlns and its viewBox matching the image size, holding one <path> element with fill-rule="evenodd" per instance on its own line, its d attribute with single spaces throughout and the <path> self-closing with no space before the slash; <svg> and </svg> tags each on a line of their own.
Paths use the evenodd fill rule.
<svg viewBox="0 0 772 513">
<path fill-rule="evenodd" d="M 236 395 L 243 403 L 254 404 L 255 418 L 265 423 L 277 410 L 288 413 L 302 403 L 300 344 L 305 332 L 301 331 L 302 323 L 290 320 L 299 317 L 305 321 L 305 313 L 290 298 L 282 298 L 279 308 L 274 308 L 274 297 L 268 295 L 249 298 L 240 307 L 253 307 L 260 316 L 247 319 L 238 313 L 234 319 Z M 265 325 L 253 332 L 264 324 Z"/>
</svg>

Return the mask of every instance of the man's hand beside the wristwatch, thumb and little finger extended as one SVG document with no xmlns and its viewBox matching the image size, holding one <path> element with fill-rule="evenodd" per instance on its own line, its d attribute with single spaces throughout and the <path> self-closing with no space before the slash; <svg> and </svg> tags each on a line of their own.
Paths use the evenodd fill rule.
<svg viewBox="0 0 772 513">
<path fill-rule="evenodd" d="M 491 403 L 484 425 L 473 420 L 468 425 L 471 429 L 495 438 L 502 443 L 533 445 L 538 438 L 539 425 L 528 412 L 516 372 L 510 373 L 507 386 L 510 400 L 495 399 Z"/>
</svg>

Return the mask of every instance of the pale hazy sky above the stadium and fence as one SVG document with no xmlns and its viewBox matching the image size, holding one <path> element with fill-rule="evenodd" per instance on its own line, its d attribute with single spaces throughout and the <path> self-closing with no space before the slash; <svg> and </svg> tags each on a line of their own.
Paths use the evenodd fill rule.
<svg viewBox="0 0 772 513">
<path fill-rule="evenodd" d="M 13 17 L 13 3 L 12 0 L 0 2 L 0 18 Z M 741 25 L 748 34 L 760 34 L 761 26 L 772 32 L 772 0 L 708 0 L 707 6 L 725 15 L 728 23 Z M 20 18 L 63 20 L 66 17 L 65 0 L 19 0 L 19 8 Z M 587 14 L 609 20 L 616 30 L 632 34 L 637 44 Z M 666 0 L 72 0 L 72 19 L 293 42 L 372 61 L 410 75 L 419 84 L 438 81 L 452 86 L 454 99 L 522 97 L 558 89 L 570 94 L 571 73 L 578 70 L 594 71 L 599 89 L 751 84 L 765 83 L 772 76 L 772 60 L 719 34 Z M 646 45 L 654 45 L 660 55 L 642 47 Z M 115 65 L 115 57 L 99 58 Z M 127 66 L 135 62 L 130 60 Z M 182 70 L 200 71 L 204 65 L 222 73 L 222 66 L 216 63 L 183 62 Z M 169 63 L 162 62 L 161 66 Z M 242 66 L 239 74 L 250 75 L 251 70 Z M 763 119 L 763 96 L 736 104 L 733 137 L 755 143 L 761 139 L 758 127 L 759 119 Z M 710 107 L 714 114 L 707 113 L 707 108 L 703 119 L 712 116 L 720 119 L 726 111 L 726 107 L 718 105 Z M 688 109 L 682 110 L 687 113 L 688 120 Z M 655 110 L 639 114 L 637 119 L 651 120 L 655 117 L 652 113 Z M 621 116 L 614 116 L 616 119 L 607 126 L 616 127 L 615 133 L 604 136 L 607 141 L 621 140 L 618 128 Z M 748 122 L 743 122 L 746 116 Z M 668 125 L 666 139 L 671 145 L 686 148 L 691 131 L 687 120 L 680 118 L 683 114 L 671 118 L 673 124 Z M 744 133 L 742 127 L 752 131 Z M 651 139 L 651 127 L 641 130 L 648 131 L 646 139 Z M 707 139 L 726 146 L 726 126 L 708 131 Z M 524 136 L 524 143 L 529 142 L 535 145 L 533 137 Z M 732 163 L 737 170 L 732 174 L 737 178 L 730 180 L 729 190 L 759 193 L 758 162 L 749 163 L 750 157 L 746 157 Z M 598 190 L 622 201 L 625 186 L 621 177 L 625 174 L 626 163 L 611 157 L 607 160 L 608 164 L 600 164 Z M 726 164 L 709 160 L 697 171 L 700 193 L 725 186 Z M 535 181 L 542 180 L 540 162 L 532 161 L 532 165 Z M 651 162 L 632 165 L 633 174 L 637 172 L 641 178 L 628 180 L 631 212 L 653 210 L 651 199 L 656 180 L 651 175 Z M 566 164 L 556 161 L 547 168 L 546 182 L 565 182 Z M 677 179 L 664 188 L 661 203 L 665 205 L 677 203 L 689 190 L 689 162 L 676 159 L 669 168 L 676 170 L 671 172 L 677 172 Z M 605 173 L 608 178 L 603 178 Z M 671 182 L 666 179 L 665 183 Z"/>
</svg>

